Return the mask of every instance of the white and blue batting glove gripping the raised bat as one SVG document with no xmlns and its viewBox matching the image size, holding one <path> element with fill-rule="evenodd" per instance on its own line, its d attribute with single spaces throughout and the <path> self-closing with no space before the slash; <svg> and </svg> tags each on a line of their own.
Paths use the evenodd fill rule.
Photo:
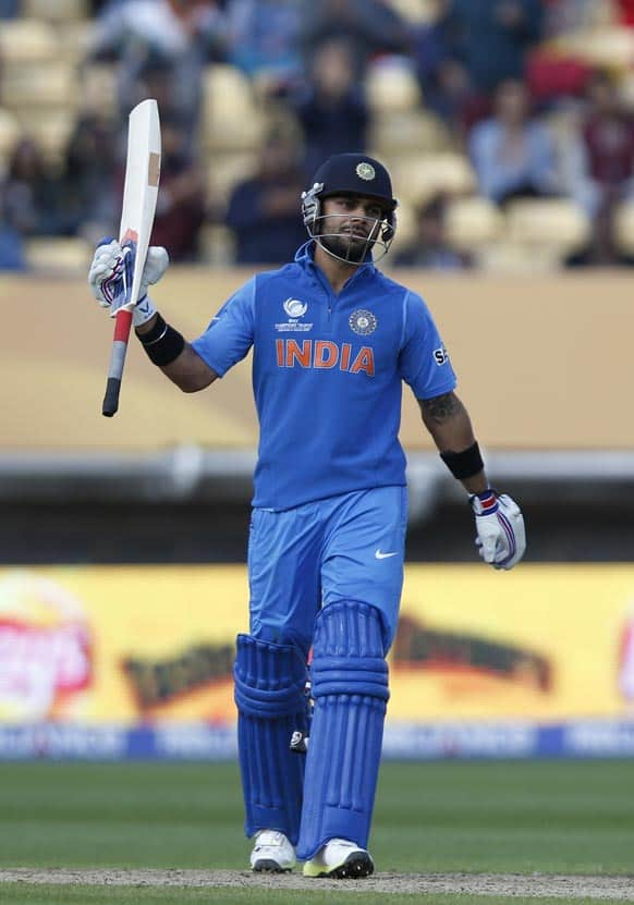
<svg viewBox="0 0 634 905">
<path fill-rule="evenodd" d="M 114 317 L 119 308 L 130 301 L 134 258 L 135 248 L 132 242 L 124 242 L 120 245 L 115 239 L 110 237 L 102 239 L 95 250 L 88 271 L 88 284 L 99 305 L 110 309 L 111 317 Z M 132 315 L 132 322 L 135 327 L 141 327 L 156 314 L 147 290 L 149 285 L 158 283 L 168 269 L 169 262 L 168 253 L 160 245 L 154 245 L 147 249 L 138 302 Z"/>
</svg>

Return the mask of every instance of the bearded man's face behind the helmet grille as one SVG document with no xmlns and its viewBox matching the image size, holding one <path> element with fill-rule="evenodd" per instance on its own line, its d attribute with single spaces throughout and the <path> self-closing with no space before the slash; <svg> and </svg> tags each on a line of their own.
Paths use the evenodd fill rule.
<svg viewBox="0 0 634 905">
<path fill-rule="evenodd" d="M 326 198 L 319 233 L 333 255 L 359 264 L 380 235 L 386 210 L 376 198 L 362 195 L 333 195 Z"/>
</svg>

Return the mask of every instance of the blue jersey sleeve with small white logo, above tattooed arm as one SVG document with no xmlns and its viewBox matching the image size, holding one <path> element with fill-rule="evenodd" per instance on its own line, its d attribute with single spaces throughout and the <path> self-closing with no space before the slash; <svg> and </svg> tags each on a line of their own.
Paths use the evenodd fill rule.
<svg viewBox="0 0 634 905">
<path fill-rule="evenodd" d="M 455 389 L 455 374 L 438 328 L 425 302 L 413 292 L 403 299 L 399 369 L 416 399 L 432 399 Z"/>
</svg>

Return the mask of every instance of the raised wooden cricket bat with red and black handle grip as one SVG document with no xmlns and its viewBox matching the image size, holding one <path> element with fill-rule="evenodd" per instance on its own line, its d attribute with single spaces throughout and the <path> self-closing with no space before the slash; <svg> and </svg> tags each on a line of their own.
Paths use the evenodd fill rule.
<svg viewBox="0 0 634 905">
<path fill-rule="evenodd" d="M 122 244 L 127 241 L 133 242 L 136 258 L 130 298 L 111 311 L 117 321 L 106 395 L 101 407 L 107 418 L 111 418 L 119 408 L 119 392 L 132 326 L 132 309 L 138 301 L 141 278 L 147 257 L 158 197 L 160 167 L 161 133 L 158 105 L 156 100 L 148 98 L 142 100 L 132 110 L 127 124 L 127 156 L 119 241 Z"/>
</svg>

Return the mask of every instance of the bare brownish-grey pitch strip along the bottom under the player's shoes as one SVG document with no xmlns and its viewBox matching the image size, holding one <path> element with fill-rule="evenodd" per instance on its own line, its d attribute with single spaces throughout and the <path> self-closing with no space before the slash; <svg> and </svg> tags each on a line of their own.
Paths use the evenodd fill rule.
<svg viewBox="0 0 634 905">
<path fill-rule="evenodd" d="M 94 886 L 259 886 L 277 890 L 334 890 L 364 893 L 468 893 L 612 898 L 634 902 L 632 877 L 547 873 L 375 873 L 363 880 L 315 880 L 301 873 L 252 873 L 237 870 L 118 870 L 8 868 L 1 883 L 60 883 Z"/>
</svg>

